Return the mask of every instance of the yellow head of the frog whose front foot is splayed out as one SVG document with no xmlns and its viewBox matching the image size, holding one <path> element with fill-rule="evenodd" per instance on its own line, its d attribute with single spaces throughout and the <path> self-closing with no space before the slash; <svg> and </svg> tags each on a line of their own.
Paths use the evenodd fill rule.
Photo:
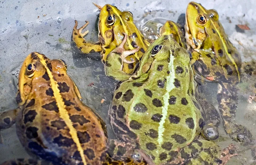
<svg viewBox="0 0 256 165">
<path fill-rule="evenodd" d="M 120 11 L 112 5 L 102 7 L 99 14 L 99 38 L 102 37 L 103 43 L 109 45 L 115 37 L 121 36 L 125 31 L 123 24 L 133 23 L 133 15 L 129 11 Z"/>
</svg>

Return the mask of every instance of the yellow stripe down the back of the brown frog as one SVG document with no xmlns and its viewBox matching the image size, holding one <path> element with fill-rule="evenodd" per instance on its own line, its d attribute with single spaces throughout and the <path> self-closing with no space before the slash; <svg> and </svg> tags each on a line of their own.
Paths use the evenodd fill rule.
<svg viewBox="0 0 256 165">
<path fill-rule="evenodd" d="M 44 65 L 46 72 L 50 78 L 50 85 L 51 85 L 51 88 L 53 89 L 53 96 L 56 100 L 56 103 L 57 103 L 57 106 L 59 109 L 59 116 L 65 121 L 67 127 L 69 128 L 69 130 L 70 130 L 69 134 L 71 135 L 71 138 L 77 145 L 77 150 L 79 151 L 79 153 L 81 155 L 83 164 L 86 165 L 85 155 L 83 154 L 83 148 L 82 148 L 81 143 L 79 142 L 79 139 L 77 136 L 77 130 L 73 127 L 72 121 L 69 118 L 69 114 L 68 114 L 67 110 L 65 109 L 66 106 L 64 105 L 62 96 L 60 94 L 57 81 L 55 81 L 53 79 L 53 75 L 52 75 L 50 69 L 47 67 L 47 64 L 46 64 L 43 56 L 41 54 L 37 54 L 37 56 L 39 57 L 40 62 Z"/>
</svg>

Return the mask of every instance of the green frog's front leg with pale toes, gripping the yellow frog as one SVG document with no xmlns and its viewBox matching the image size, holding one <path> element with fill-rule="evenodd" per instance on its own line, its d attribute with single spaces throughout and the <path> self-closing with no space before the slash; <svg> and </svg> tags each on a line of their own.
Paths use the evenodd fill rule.
<svg viewBox="0 0 256 165">
<path fill-rule="evenodd" d="M 127 34 L 123 33 L 124 38 L 122 43 L 119 44 L 113 51 L 111 51 L 106 58 L 106 63 L 104 66 L 106 76 L 112 77 L 118 81 L 128 80 L 131 76 L 130 74 L 122 71 L 124 63 L 134 63 L 134 60 L 131 61 L 126 60 L 125 58 L 135 52 L 139 51 L 139 47 L 133 50 L 125 50 L 124 45 L 127 41 Z"/>
</svg>

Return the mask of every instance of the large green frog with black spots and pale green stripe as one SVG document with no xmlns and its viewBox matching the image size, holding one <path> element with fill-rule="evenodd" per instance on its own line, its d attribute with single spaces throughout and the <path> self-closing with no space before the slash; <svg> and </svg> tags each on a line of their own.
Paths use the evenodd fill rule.
<svg viewBox="0 0 256 165">
<path fill-rule="evenodd" d="M 117 137 L 113 157 L 143 158 L 148 164 L 219 164 L 220 147 L 201 136 L 204 126 L 195 99 L 192 54 L 170 36 L 155 40 L 137 72 L 119 83 L 109 107 Z"/>
</svg>

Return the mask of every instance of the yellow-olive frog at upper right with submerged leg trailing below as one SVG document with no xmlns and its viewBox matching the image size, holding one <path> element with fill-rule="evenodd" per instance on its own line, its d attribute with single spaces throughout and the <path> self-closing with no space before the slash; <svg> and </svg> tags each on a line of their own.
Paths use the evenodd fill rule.
<svg viewBox="0 0 256 165">
<path fill-rule="evenodd" d="M 241 56 L 229 41 L 218 12 L 190 2 L 186 10 L 185 37 L 192 52 L 191 65 L 202 82 L 218 84 L 217 102 L 226 133 L 236 142 L 253 145 L 252 134 L 234 121 L 238 105 L 236 85 L 241 79 Z"/>
</svg>

